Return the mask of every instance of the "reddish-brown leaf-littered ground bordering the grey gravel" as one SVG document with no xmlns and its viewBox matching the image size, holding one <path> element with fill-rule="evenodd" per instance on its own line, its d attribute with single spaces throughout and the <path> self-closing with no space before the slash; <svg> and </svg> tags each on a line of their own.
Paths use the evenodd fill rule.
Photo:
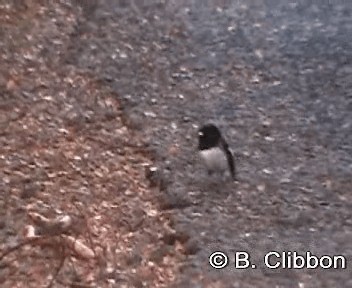
<svg viewBox="0 0 352 288">
<path fill-rule="evenodd" d="M 95 259 L 25 245 L 1 259 L 1 286 L 169 287 L 183 248 L 163 240 L 173 229 L 145 178 L 143 139 L 111 89 L 62 64 L 75 9 L 0 7 L 0 254 L 23 241 L 37 212 L 72 216 L 71 234 Z"/>
</svg>

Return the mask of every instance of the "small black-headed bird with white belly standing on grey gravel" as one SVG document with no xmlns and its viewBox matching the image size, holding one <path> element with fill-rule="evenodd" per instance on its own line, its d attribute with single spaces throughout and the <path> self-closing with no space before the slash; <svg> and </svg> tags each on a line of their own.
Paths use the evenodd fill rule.
<svg viewBox="0 0 352 288">
<path fill-rule="evenodd" d="M 236 180 L 235 162 L 229 145 L 222 137 L 219 128 L 206 124 L 198 131 L 198 150 L 208 169 L 208 173 L 226 173 Z"/>
</svg>

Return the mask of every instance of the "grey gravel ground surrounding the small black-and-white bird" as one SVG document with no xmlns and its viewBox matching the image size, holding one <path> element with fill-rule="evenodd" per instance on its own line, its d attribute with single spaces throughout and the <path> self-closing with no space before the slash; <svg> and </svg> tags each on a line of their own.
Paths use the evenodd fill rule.
<svg viewBox="0 0 352 288">
<path fill-rule="evenodd" d="M 77 3 L 65 4 L 74 23 L 57 28 L 68 31 L 65 45 L 47 39 L 43 57 L 57 49 L 48 71 L 64 71 L 62 79 L 71 67 L 99 85 L 94 95 L 112 93 L 159 168 L 155 218 L 172 214 L 176 231 L 157 238 L 173 251 L 163 285 L 351 287 L 352 5 Z M 238 183 L 208 179 L 200 165 L 196 131 L 205 122 L 224 131 Z M 225 269 L 209 266 L 215 250 L 230 256 Z M 347 269 L 270 270 L 262 259 L 272 250 L 342 254 Z M 236 251 L 249 252 L 257 269 L 234 269 Z"/>
</svg>

